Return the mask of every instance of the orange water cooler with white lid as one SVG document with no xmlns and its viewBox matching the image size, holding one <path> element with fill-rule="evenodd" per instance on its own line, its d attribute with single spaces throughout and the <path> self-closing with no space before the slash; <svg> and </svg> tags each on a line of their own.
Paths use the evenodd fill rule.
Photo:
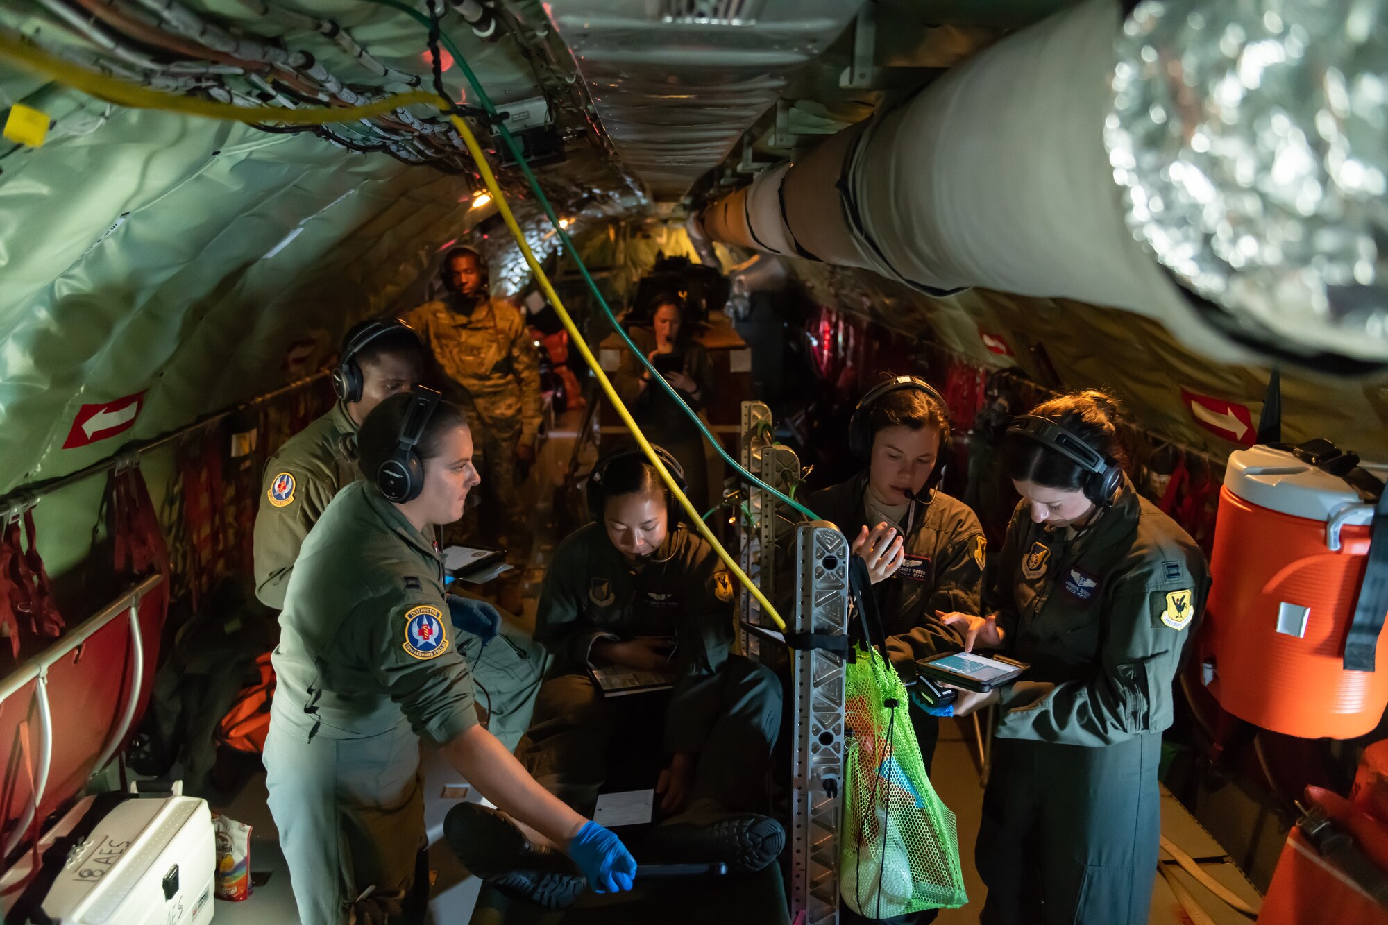
<svg viewBox="0 0 1388 925">
<path fill-rule="evenodd" d="M 1230 456 L 1201 646 L 1220 706 L 1312 739 L 1351 739 L 1378 725 L 1388 633 L 1370 649 L 1376 671 L 1344 664 L 1373 517 L 1374 506 L 1344 479 L 1289 451 L 1255 446 Z"/>
</svg>

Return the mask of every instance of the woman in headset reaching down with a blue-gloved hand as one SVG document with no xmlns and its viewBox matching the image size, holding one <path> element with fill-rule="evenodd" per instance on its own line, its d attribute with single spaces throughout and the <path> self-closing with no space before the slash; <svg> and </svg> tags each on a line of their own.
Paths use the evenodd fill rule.
<svg viewBox="0 0 1388 925">
<path fill-rule="evenodd" d="M 429 389 L 396 394 L 357 442 L 366 478 L 333 497 L 304 542 L 273 654 L 266 783 L 300 921 L 405 921 L 425 838 L 419 738 L 562 846 L 595 889 L 630 889 L 636 862 L 618 838 L 550 796 L 477 725 L 433 542 L 479 482 L 462 411 Z"/>
</svg>

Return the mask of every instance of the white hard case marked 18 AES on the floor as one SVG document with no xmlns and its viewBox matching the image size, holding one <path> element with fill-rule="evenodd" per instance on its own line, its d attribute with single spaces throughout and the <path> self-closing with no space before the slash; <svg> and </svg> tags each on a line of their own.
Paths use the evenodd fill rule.
<svg viewBox="0 0 1388 925">
<path fill-rule="evenodd" d="M 94 800 L 83 799 L 53 826 L 40 856 L 69 838 Z M 68 851 L 42 908 L 56 925 L 201 925 L 212 919 L 215 871 L 205 800 L 132 797 Z"/>
</svg>

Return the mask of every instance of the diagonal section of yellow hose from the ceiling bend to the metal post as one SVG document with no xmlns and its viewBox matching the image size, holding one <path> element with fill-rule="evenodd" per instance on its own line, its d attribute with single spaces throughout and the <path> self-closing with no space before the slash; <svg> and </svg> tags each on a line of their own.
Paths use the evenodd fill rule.
<svg viewBox="0 0 1388 925">
<path fill-rule="evenodd" d="M 680 507 L 683 507 L 690 515 L 690 524 L 694 525 L 694 529 L 700 532 L 700 536 L 708 540 L 709 546 L 713 547 L 713 551 L 718 553 L 720 560 L 723 560 L 723 564 L 727 565 L 729 571 L 733 572 L 737 576 L 737 581 L 740 581 L 751 596 L 756 599 L 756 603 L 761 604 L 762 612 L 770 617 L 772 622 L 784 631 L 786 621 L 781 619 L 779 612 L 776 612 L 776 608 L 769 600 L 766 600 L 766 596 L 762 594 L 761 589 L 752 583 L 752 579 L 747 576 L 747 572 L 744 572 L 727 550 L 723 549 L 723 544 L 718 542 L 713 532 L 708 529 L 708 524 L 705 524 L 704 518 L 700 517 L 694 503 L 690 501 L 684 492 L 682 492 L 675 483 L 675 476 L 672 476 L 669 469 L 665 468 L 665 464 L 661 462 L 661 457 L 658 457 L 655 450 L 651 449 L 650 440 L 647 440 L 645 435 L 641 433 L 641 428 L 637 426 L 632 412 L 627 411 L 625 404 L 622 404 L 622 399 L 618 397 L 616 389 L 612 388 L 612 382 L 607 378 L 607 374 L 602 372 L 601 364 L 598 364 L 598 361 L 593 357 L 593 351 L 589 349 L 589 342 L 583 339 L 583 333 L 579 332 L 579 326 L 573 324 L 573 318 L 569 317 L 568 310 L 564 307 L 559 293 L 554 290 L 554 286 L 550 283 L 550 278 L 544 274 L 544 268 L 540 267 L 540 261 L 534 258 L 534 251 L 530 250 L 530 244 L 526 243 L 520 225 L 516 224 L 515 215 L 511 214 L 511 204 L 507 203 L 505 193 L 502 193 L 501 188 L 497 185 L 497 178 L 491 172 L 491 165 L 487 164 L 487 158 L 483 157 L 482 147 L 477 144 L 477 139 L 472 135 L 472 129 L 469 129 L 468 124 L 457 115 L 450 115 L 448 118 L 452 119 L 452 126 L 458 129 L 458 135 L 462 136 L 464 144 L 468 146 L 468 153 L 472 154 L 472 160 L 477 164 L 477 169 L 482 172 L 482 182 L 486 183 L 487 192 L 491 193 L 491 199 L 496 201 L 497 210 L 501 212 L 501 218 L 505 219 L 507 228 L 511 229 L 511 236 L 516 239 L 516 244 L 520 247 L 520 253 L 525 256 L 525 261 L 529 264 L 530 272 L 534 274 L 536 282 L 540 283 L 540 289 L 544 290 L 550 304 L 554 306 L 554 311 L 559 315 L 559 321 L 564 322 L 565 331 L 569 332 L 569 338 L 577 346 L 579 353 L 583 356 L 583 361 L 589 364 L 589 368 L 593 369 L 593 375 L 598 378 L 598 385 L 602 386 L 602 392 L 607 393 L 612 407 L 616 408 L 618 417 L 622 418 L 622 424 L 625 424 L 626 429 L 636 438 L 641 451 L 645 453 L 645 458 L 655 467 L 655 471 L 661 474 L 661 481 L 665 482 L 665 488 L 670 490 L 670 493 L 679 500 Z"/>
</svg>

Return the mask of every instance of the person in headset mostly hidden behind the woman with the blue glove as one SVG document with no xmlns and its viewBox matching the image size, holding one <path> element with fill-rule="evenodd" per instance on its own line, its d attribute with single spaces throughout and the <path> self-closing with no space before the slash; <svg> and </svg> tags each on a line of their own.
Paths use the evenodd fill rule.
<svg viewBox="0 0 1388 925">
<path fill-rule="evenodd" d="M 291 436 L 265 464 L 255 514 L 255 596 L 266 607 L 285 607 L 285 593 L 300 549 L 328 503 L 359 472 L 353 460 L 357 431 L 366 415 L 390 396 L 409 392 L 423 369 L 423 344 L 414 328 L 398 318 L 371 318 L 353 325 L 333 367 L 337 404 Z M 487 729 L 515 750 L 530 725 L 545 651 L 487 601 L 448 594 L 459 649 L 482 692 Z M 491 640 L 501 635 L 502 640 Z"/>
</svg>

